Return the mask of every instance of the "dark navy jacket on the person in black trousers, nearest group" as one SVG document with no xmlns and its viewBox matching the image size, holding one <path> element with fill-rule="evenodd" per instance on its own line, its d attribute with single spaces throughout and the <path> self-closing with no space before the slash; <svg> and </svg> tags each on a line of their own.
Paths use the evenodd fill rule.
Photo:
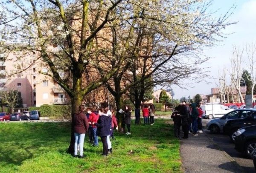
<svg viewBox="0 0 256 173">
<path fill-rule="evenodd" d="M 109 128 L 110 117 L 108 115 L 99 116 L 99 120 L 94 125 L 97 126 L 97 134 L 98 136 L 108 136 L 110 134 Z"/>
</svg>

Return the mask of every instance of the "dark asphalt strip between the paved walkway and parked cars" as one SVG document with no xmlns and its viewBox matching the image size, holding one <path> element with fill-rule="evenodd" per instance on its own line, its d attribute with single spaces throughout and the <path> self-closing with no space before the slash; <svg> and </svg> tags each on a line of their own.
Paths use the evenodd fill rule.
<svg viewBox="0 0 256 173">
<path fill-rule="evenodd" d="M 212 134 L 209 130 L 206 129 L 206 124 L 209 120 L 203 120 L 204 133 L 211 138 L 216 144 L 221 147 L 228 155 L 230 155 L 247 173 L 256 172 L 253 165 L 253 160 L 248 159 L 242 153 L 237 152 L 235 148 L 235 144 L 230 141 L 229 136 L 226 136 L 222 133 L 220 134 Z M 212 159 L 214 161 L 214 158 Z"/>
</svg>

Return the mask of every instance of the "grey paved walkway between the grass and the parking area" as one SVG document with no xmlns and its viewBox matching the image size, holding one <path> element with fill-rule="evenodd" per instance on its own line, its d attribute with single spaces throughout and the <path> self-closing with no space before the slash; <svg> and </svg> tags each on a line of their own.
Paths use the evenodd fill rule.
<svg viewBox="0 0 256 173">
<path fill-rule="evenodd" d="M 204 133 L 183 139 L 180 154 L 185 173 L 242 173 L 243 170 Z"/>
</svg>

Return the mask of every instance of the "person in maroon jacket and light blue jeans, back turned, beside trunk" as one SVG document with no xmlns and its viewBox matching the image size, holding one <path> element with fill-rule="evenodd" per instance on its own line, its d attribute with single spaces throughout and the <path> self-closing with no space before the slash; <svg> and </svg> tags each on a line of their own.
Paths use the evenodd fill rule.
<svg viewBox="0 0 256 173">
<path fill-rule="evenodd" d="M 79 111 L 74 115 L 74 136 L 75 136 L 75 152 L 74 157 L 77 157 L 77 150 L 79 146 L 79 158 L 84 157 L 84 137 L 88 131 L 89 123 L 86 115 L 84 115 L 84 105 L 79 106 Z"/>
</svg>

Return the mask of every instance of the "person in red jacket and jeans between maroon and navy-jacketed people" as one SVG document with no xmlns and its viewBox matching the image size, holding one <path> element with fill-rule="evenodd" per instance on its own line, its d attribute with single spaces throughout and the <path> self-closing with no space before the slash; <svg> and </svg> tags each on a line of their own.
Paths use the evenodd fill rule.
<svg viewBox="0 0 256 173">
<path fill-rule="evenodd" d="M 96 110 L 94 110 L 92 112 L 91 108 L 87 108 L 87 113 L 89 114 L 89 119 L 88 121 L 90 123 L 96 123 L 99 119 L 99 114 L 96 115 Z M 97 126 L 92 125 L 92 128 L 90 128 L 92 130 L 91 134 L 93 134 L 93 146 L 94 147 L 98 147 L 99 146 L 99 138 L 96 135 L 96 131 L 97 131 Z"/>
</svg>

